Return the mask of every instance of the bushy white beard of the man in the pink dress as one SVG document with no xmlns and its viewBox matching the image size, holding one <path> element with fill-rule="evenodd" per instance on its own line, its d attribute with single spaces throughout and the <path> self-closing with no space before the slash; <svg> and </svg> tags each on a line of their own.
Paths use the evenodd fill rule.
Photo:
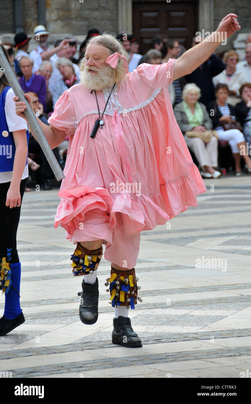
<svg viewBox="0 0 251 404">
<path fill-rule="evenodd" d="M 97 74 L 89 72 L 94 70 Z M 110 65 L 103 65 L 100 69 L 96 67 L 85 66 L 80 72 L 80 81 L 84 87 L 90 90 L 102 90 L 103 88 L 112 87 L 114 80 L 114 69 Z"/>
</svg>

